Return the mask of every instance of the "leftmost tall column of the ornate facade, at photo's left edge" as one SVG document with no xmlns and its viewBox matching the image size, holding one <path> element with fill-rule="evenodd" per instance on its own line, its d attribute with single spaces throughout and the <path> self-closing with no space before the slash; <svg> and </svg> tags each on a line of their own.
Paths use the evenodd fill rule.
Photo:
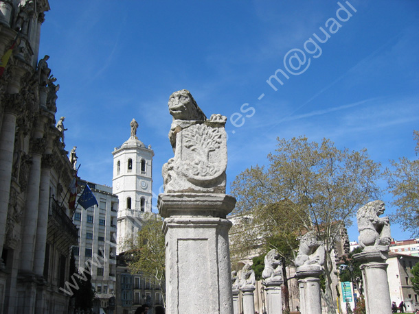
<svg viewBox="0 0 419 314">
<path fill-rule="evenodd" d="M 5 224 L 8 217 L 16 117 L 14 113 L 4 112 L 0 131 L 0 252 L 3 252 Z"/>
</svg>

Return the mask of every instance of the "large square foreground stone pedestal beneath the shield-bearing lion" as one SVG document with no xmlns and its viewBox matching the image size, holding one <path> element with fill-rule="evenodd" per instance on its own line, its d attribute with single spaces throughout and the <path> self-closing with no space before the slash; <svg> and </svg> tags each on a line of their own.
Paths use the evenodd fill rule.
<svg viewBox="0 0 419 314">
<path fill-rule="evenodd" d="M 225 217 L 236 199 L 215 193 L 165 193 L 158 203 L 165 218 L 166 313 L 232 314 L 231 222 Z"/>
</svg>

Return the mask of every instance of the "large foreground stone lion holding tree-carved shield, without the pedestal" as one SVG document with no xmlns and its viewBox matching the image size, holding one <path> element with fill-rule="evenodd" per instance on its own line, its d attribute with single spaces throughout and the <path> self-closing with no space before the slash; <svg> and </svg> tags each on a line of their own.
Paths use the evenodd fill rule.
<svg viewBox="0 0 419 314">
<path fill-rule="evenodd" d="M 163 165 L 165 193 L 225 193 L 227 117 L 207 119 L 188 90 L 170 96 L 169 132 L 174 157 Z"/>
</svg>

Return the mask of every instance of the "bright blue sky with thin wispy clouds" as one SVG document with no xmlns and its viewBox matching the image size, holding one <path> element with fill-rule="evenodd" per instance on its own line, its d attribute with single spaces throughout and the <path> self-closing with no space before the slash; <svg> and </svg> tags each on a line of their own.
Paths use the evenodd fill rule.
<svg viewBox="0 0 419 314">
<path fill-rule="evenodd" d="M 39 56 L 50 56 L 56 117 L 66 117 L 67 149 L 78 147 L 84 180 L 111 186 L 111 153 L 135 118 L 155 151 L 157 195 L 172 157 L 168 98 L 182 88 L 207 117 L 229 119 L 228 182 L 265 164 L 278 136 L 366 147 L 383 168 L 417 158 L 419 1 L 340 1 L 345 10 L 308 0 L 49 3 Z M 277 72 L 283 85 L 271 80 L 273 88 L 277 70 L 286 76 Z M 356 226 L 349 234 L 356 239 Z M 410 235 L 395 224 L 392 234 Z"/>
</svg>

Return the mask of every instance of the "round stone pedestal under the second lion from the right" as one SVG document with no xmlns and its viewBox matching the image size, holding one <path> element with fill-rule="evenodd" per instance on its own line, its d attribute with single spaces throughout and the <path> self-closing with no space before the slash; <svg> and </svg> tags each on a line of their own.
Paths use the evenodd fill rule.
<svg viewBox="0 0 419 314">
<path fill-rule="evenodd" d="M 321 314 L 319 265 L 304 265 L 297 268 L 300 311 L 302 314 Z M 377 312 L 378 313 L 378 312 Z"/>
</svg>

